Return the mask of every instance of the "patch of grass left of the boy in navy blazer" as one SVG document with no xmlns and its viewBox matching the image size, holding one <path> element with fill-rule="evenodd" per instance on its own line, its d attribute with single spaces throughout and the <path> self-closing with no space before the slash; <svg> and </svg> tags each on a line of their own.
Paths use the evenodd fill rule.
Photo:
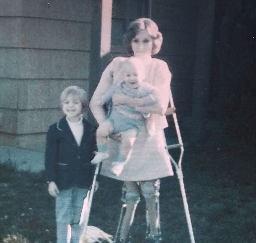
<svg viewBox="0 0 256 243">
<path fill-rule="evenodd" d="M 2 241 L 9 234 L 31 242 L 53 242 L 54 199 L 47 195 L 43 173 L 16 172 L 1 165 L 0 195 Z M 8 242 L 16 241 L 13 237 Z"/>
</svg>

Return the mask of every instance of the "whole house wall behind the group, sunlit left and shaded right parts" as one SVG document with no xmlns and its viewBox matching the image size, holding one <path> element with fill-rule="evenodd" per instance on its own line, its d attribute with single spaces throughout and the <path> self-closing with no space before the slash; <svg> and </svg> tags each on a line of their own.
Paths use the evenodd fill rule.
<svg viewBox="0 0 256 243">
<path fill-rule="evenodd" d="M 1 1 L 0 146 L 43 151 L 48 126 L 62 116 L 60 92 L 68 85 L 88 91 L 89 78 L 96 85 L 98 79 L 90 77 L 89 69 L 92 14 L 99 2 Z M 126 2 L 113 0 L 112 57 L 126 54 L 121 42 Z M 129 21 L 147 16 L 146 2 L 130 0 Z M 152 19 L 164 37 L 156 57 L 164 59 L 173 74 L 180 119 L 192 109 L 197 12 L 197 1 L 152 1 Z"/>
</svg>

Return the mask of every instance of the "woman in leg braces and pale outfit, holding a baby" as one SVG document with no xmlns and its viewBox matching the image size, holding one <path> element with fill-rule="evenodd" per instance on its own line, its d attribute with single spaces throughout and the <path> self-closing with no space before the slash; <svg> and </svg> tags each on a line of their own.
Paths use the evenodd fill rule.
<svg viewBox="0 0 256 243">
<path fill-rule="evenodd" d="M 118 155 L 119 143 L 109 140 L 108 149 L 111 156 L 104 160 L 101 174 L 124 181 L 125 193 L 123 195 L 125 198 L 123 200 L 125 200 L 127 208 L 120 231 L 120 242 L 125 242 L 127 239 L 133 214 L 140 200 L 140 192 L 145 198 L 149 215 L 150 233 L 147 236 L 147 241 L 160 242 L 159 212 L 156 207 L 156 202 L 159 200 L 159 178 L 173 175 L 169 155 L 165 149 L 166 142 L 163 132 L 163 129 L 168 126 L 164 114 L 169 103 L 171 73 L 167 63 L 152 58 L 152 55 L 160 51 L 162 44 L 162 34 L 152 20 L 139 18 L 131 22 L 128 31 L 124 34 L 124 44 L 130 55 L 143 61 L 146 69 L 145 82 L 156 87 L 159 102 L 146 106 L 143 98 L 113 97 L 113 105 L 127 104 L 135 107 L 137 111 L 150 113 L 150 116 L 138 134 L 130 159 L 119 176 L 114 176 L 109 170 L 111 163 Z M 100 99 L 113 83 L 123 79 L 120 67 L 126 59 L 126 57 L 117 57 L 108 64 L 91 98 L 91 111 L 99 124 L 107 119 Z"/>
</svg>

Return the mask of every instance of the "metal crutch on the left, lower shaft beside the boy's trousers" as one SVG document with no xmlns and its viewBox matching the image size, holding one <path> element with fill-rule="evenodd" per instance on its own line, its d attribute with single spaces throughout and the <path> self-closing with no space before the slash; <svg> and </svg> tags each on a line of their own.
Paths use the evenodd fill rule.
<svg viewBox="0 0 256 243">
<path fill-rule="evenodd" d="M 84 212 L 84 215 L 83 215 L 84 218 L 83 218 L 82 223 L 81 223 L 82 227 L 83 227 L 83 230 L 82 230 L 82 234 L 81 234 L 79 243 L 84 243 L 85 236 L 86 236 L 86 233 L 87 233 L 87 226 L 88 226 L 88 221 L 89 221 L 90 212 L 91 212 L 91 203 L 92 203 L 93 193 L 94 193 L 94 190 L 95 190 L 96 178 L 97 178 L 97 175 L 99 173 L 99 168 L 100 168 L 100 163 L 96 165 L 91 190 L 88 192 L 89 195 L 88 195 L 87 209 Z"/>
</svg>

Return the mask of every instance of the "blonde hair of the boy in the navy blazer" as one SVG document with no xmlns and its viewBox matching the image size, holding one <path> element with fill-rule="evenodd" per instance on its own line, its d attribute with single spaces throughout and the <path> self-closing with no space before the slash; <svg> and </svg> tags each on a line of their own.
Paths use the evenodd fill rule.
<svg viewBox="0 0 256 243">
<path fill-rule="evenodd" d="M 75 95 L 78 97 L 78 99 L 82 103 L 82 112 L 86 112 L 89 110 L 89 105 L 87 103 L 87 95 L 82 88 L 75 85 L 65 88 L 60 95 L 61 105 L 63 104 L 64 100 L 67 99 L 68 95 Z"/>
</svg>

